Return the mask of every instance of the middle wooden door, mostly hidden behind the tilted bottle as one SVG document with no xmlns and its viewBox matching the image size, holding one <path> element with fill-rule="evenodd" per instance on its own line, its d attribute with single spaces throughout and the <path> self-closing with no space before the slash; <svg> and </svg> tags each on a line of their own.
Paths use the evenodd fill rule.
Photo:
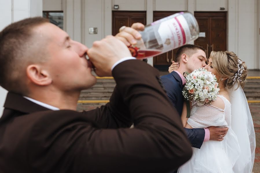
<svg viewBox="0 0 260 173">
<path fill-rule="evenodd" d="M 159 20 L 161 18 L 170 16 L 172 14 L 178 13 L 177 11 L 154 11 L 153 21 Z M 154 57 L 154 67 L 159 71 L 168 71 L 169 66 L 172 64 L 172 61 L 175 61 L 175 54 L 177 49 L 170 50 L 169 52 L 165 52 Z"/>
</svg>

